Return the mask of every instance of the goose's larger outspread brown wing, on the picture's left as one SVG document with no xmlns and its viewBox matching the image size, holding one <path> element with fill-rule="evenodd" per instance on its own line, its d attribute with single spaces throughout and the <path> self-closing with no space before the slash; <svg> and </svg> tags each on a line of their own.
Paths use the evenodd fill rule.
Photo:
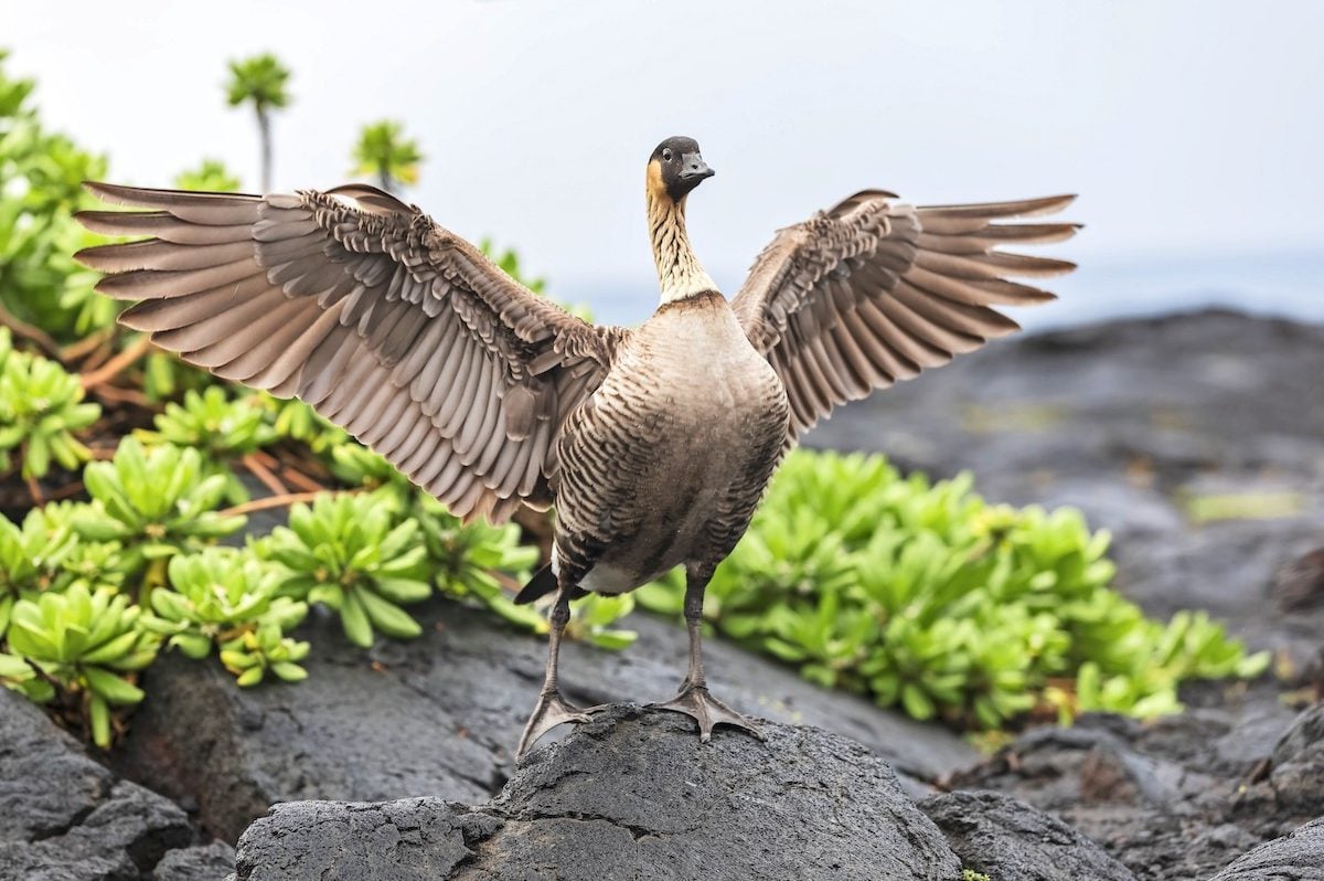
<svg viewBox="0 0 1324 881">
<path fill-rule="evenodd" d="M 628 333 L 523 287 L 365 185 L 245 196 L 89 184 L 146 241 L 79 252 L 120 321 L 217 376 L 297 396 L 465 518 L 547 506 L 555 437 Z"/>
</svg>

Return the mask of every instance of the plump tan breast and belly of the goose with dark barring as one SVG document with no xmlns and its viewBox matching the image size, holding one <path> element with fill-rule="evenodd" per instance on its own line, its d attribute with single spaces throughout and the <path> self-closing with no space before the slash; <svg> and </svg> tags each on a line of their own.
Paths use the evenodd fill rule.
<svg viewBox="0 0 1324 881">
<path fill-rule="evenodd" d="M 600 473 L 567 480 L 585 492 L 557 498 L 567 531 L 592 539 L 567 542 L 592 547 L 584 590 L 618 594 L 675 566 L 716 566 L 744 534 L 781 457 L 788 404 L 735 330 L 698 350 L 695 334 L 671 334 L 687 344 L 651 347 L 594 395 L 587 433 L 602 442 L 584 470 L 596 457 Z"/>
</svg>

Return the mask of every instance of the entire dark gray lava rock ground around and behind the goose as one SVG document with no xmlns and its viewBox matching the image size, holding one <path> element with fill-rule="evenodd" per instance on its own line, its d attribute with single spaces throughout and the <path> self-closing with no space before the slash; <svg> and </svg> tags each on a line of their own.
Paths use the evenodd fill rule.
<svg viewBox="0 0 1324 881">
<path fill-rule="evenodd" d="M 298 686 L 240 692 L 176 657 L 151 668 L 109 768 L 0 692 L 0 881 L 960 866 L 997 881 L 1324 880 L 1324 710 L 1309 706 L 1324 684 L 1320 376 L 1324 329 L 1121 322 L 993 346 L 812 437 L 939 476 L 970 469 L 993 499 L 1084 509 L 1115 534 L 1121 590 L 1156 615 L 1225 617 L 1278 653 L 1286 685 L 1197 688 L 1180 717 L 1091 717 L 981 759 L 714 641 L 714 688 L 772 719 L 765 745 L 723 731 L 700 746 L 679 717 L 614 707 L 516 768 L 539 640 L 436 601 L 424 639 L 365 656 L 314 620 Z M 573 697 L 674 692 L 683 631 L 637 617 L 624 653 L 568 647 Z M 260 819 L 274 802 L 293 803 Z"/>
</svg>

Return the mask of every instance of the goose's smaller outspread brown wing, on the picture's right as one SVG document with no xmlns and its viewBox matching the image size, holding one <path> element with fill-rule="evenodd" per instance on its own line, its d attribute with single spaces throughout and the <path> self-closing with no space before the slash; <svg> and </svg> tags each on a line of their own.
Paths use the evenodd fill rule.
<svg viewBox="0 0 1324 881">
<path fill-rule="evenodd" d="M 1054 298 L 1008 276 L 1075 268 L 1000 250 L 1070 238 L 1076 224 L 1000 221 L 1057 212 L 1074 196 L 927 208 L 894 199 L 865 191 L 780 231 L 732 301 L 786 386 L 788 444 L 838 404 L 1018 330 L 992 306 Z"/>
</svg>

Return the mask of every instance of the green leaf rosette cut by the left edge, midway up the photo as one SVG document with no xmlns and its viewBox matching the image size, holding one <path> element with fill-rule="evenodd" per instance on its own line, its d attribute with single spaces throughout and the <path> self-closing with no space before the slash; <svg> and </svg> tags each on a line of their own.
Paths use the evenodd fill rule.
<svg viewBox="0 0 1324 881">
<path fill-rule="evenodd" d="M 0 327 L 0 474 L 19 452 L 24 477 L 45 477 L 54 460 L 74 469 L 90 453 L 74 432 L 97 421 L 101 407 L 83 403 L 82 384 L 53 360 L 15 351 Z"/>
</svg>

